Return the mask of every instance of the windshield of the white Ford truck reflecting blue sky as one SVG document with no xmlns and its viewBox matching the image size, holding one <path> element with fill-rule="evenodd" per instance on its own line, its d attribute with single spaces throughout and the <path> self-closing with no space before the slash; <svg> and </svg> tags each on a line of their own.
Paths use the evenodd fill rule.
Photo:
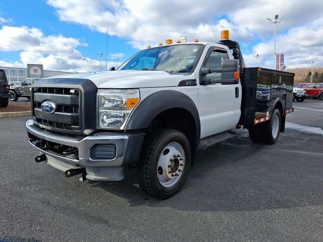
<svg viewBox="0 0 323 242">
<path fill-rule="evenodd" d="M 128 59 L 118 70 L 192 73 L 203 47 L 202 44 L 178 44 L 145 49 Z"/>
</svg>

